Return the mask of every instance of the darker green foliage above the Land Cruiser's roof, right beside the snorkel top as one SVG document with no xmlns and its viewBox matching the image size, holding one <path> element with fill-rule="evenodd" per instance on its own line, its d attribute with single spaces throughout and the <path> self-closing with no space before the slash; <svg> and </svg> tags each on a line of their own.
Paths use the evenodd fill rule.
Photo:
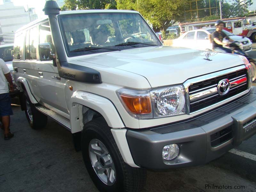
<svg viewBox="0 0 256 192">
<path fill-rule="evenodd" d="M 65 10 L 84 10 L 84 9 L 116 9 L 115 0 L 65 0 L 61 7 Z"/>
</svg>

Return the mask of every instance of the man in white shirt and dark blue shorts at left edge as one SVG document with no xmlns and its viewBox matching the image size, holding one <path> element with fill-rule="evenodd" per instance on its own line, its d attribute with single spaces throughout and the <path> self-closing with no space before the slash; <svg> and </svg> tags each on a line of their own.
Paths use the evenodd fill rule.
<svg viewBox="0 0 256 192">
<path fill-rule="evenodd" d="M 10 115 L 13 115 L 13 113 L 6 79 L 9 82 L 10 91 L 12 92 L 13 84 L 10 70 L 4 63 L 4 60 L 0 59 L 0 120 L 3 124 L 2 129 L 4 129 L 4 140 L 9 140 L 14 136 L 9 129 Z"/>
</svg>

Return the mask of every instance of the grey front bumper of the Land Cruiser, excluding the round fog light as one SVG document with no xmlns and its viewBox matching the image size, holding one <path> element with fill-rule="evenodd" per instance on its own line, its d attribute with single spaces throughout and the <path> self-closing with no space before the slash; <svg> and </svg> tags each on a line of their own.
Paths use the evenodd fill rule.
<svg viewBox="0 0 256 192">
<path fill-rule="evenodd" d="M 188 122 L 142 131 L 128 130 L 126 139 L 134 163 L 148 169 L 205 164 L 256 133 L 256 87 L 249 95 Z M 172 161 L 162 158 L 165 145 L 178 144 Z"/>
</svg>

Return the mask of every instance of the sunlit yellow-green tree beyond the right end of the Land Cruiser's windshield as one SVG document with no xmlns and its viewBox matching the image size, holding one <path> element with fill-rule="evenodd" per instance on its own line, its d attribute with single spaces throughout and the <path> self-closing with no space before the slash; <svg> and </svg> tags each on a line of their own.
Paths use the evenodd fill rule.
<svg viewBox="0 0 256 192">
<path fill-rule="evenodd" d="M 148 20 L 153 29 L 160 29 L 165 38 L 166 29 L 184 20 L 186 0 L 116 0 L 117 9 L 136 10 Z"/>
</svg>

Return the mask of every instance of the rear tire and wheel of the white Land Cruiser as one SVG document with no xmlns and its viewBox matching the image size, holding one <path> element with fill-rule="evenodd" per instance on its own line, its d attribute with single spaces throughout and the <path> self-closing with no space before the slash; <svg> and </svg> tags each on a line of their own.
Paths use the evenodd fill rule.
<svg viewBox="0 0 256 192">
<path fill-rule="evenodd" d="M 44 128 L 47 124 L 47 116 L 36 110 L 36 107 L 31 103 L 27 92 L 24 92 L 23 94 L 23 102 L 25 107 L 24 111 L 30 127 L 33 129 Z"/>
</svg>

